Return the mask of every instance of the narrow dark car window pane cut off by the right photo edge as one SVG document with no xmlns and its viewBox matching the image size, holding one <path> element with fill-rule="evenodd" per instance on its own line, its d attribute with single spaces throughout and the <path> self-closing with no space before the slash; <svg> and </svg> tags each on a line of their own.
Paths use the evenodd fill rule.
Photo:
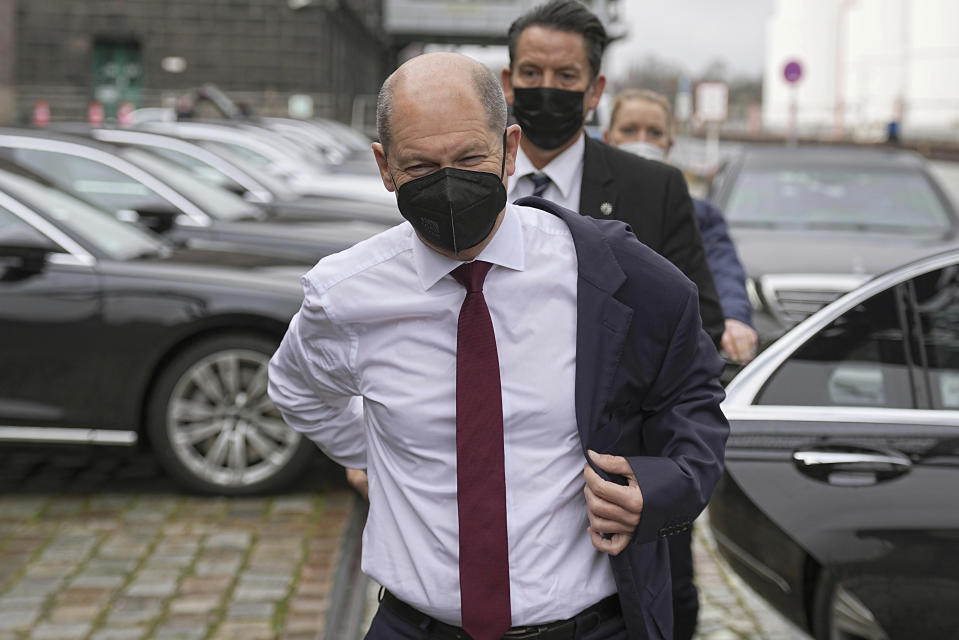
<svg viewBox="0 0 959 640">
<path fill-rule="evenodd" d="M 914 278 L 912 291 L 931 404 L 959 411 L 959 265 Z"/>
</svg>

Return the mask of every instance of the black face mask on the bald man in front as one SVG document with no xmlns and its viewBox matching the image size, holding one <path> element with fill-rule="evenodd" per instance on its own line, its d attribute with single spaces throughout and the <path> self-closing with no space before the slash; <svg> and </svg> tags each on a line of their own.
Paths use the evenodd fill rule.
<svg viewBox="0 0 959 640">
<path fill-rule="evenodd" d="M 498 177 L 488 171 L 443 167 L 400 187 L 396 203 L 423 239 L 459 253 L 485 240 L 506 206 L 505 167 L 503 132 L 503 161 Z"/>
</svg>

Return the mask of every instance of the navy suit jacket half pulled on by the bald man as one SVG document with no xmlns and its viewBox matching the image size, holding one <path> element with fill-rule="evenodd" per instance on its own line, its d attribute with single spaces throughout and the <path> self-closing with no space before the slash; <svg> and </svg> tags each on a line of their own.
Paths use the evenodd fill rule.
<svg viewBox="0 0 959 640">
<path fill-rule="evenodd" d="M 516 204 L 559 216 L 573 236 L 580 441 L 584 455 L 624 456 L 643 492 L 632 541 L 610 557 L 629 637 L 672 638 L 666 537 L 705 508 L 729 433 L 723 364 L 702 329 L 696 287 L 622 222 L 541 198 Z"/>
</svg>

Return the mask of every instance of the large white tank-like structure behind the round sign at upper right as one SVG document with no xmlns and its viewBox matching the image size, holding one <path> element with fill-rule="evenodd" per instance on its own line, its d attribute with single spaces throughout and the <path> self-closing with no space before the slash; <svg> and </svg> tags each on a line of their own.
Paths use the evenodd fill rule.
<svg viewBox="0 0 959 640">
<path fill-rule="evenodd" d="M 791 86 L 789 60 L 802 64 Z M 959 2 L 778 0 L 766 30 L 763 129 L 801 136 L 959 139 Z"/>
</svg>

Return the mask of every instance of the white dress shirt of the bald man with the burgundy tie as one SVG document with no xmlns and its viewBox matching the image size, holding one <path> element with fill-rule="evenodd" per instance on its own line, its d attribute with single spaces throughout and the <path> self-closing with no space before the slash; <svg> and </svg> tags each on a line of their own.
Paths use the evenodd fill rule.
<svg viewBox="0 0 959 640">
<path fill-rule="evenodd" d="M 480 254 L 503 391 L 513 625 L 615 593 L 587 532 L 576 428 L 577 263 L 559 218 L 507 205 Z M 409 223 L 324 258 L 270 362 L 270 396 L 333 460 L 369 472 L 363 570 L 460 624 L 456 503 L 458 261 Z M 362 401 L 359 400 L 362 398 Z"/>
</svg>

